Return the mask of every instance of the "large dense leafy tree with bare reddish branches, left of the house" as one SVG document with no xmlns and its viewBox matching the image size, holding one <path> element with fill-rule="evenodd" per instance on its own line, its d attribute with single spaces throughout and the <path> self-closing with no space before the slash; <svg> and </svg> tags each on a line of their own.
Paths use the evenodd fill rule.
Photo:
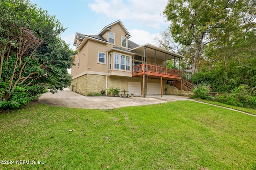
<svg viewBox="0 0 256 170">
<path fill-rule="evenodd" d="M 29 0 L 0 0 L 0 108 L 16 108 L 70 83 L 72 51 L 65 29 Z"/>
</svg>

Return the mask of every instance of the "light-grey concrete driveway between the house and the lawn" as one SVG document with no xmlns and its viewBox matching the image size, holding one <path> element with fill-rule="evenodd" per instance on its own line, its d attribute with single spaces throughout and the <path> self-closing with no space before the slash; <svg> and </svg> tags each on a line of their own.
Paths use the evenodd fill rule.
<svg viewBox="0 0 256 170">
<path fill-rule="evenodd" d="M 87 97 L 77 94 L 72 91 L 59 91 L 57 94 L 47 92 L 43 94 L 38 102 L 60 107 L 73 107 L 84 109 L 113 109 L 126 106 L 140 106 L 149 104 L 159 104 L 165 102 L 174 102 L 179 100 L 191 100 L 188 96 L 174 96 L 174 95 L 150 95 L 143 97 Z"/>
</svg>

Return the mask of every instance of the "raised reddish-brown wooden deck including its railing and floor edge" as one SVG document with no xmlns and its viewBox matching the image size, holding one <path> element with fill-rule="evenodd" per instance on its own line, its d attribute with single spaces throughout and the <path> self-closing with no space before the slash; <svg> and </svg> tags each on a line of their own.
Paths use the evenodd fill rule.
<svg viewBox="0 0 256 170">
<path fill-rule="evenodd" d="M 132 76 L 142 76 L 143 74 L 162 78 L 171 79 L 182 79 L 182 71 L 174 70 L 170 68 L 164 68 L 160 66 L 155 66 L 151 64 L 146 64 L 145 68 L 143 64 L 132 66 Z"/>
</svg>

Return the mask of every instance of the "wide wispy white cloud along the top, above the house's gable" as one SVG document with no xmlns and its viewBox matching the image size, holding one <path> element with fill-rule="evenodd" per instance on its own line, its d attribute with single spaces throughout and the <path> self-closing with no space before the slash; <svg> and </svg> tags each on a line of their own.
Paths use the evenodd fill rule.
<svg viewBox="0 0 256 170">
<path fill-rule="evenodd" d="M 163 11 L 167 0 L 95 0 L 88 7 L 116 20 L 133 20 L 134 23 L 160 29 L 160 25 L 167 25 Z"/>
</svg>

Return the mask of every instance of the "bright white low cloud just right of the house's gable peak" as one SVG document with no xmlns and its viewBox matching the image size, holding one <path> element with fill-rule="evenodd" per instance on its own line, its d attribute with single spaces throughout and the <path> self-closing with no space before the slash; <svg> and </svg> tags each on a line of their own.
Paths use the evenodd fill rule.
<svg viewBox="0 0 256 170">
<path fill-rule="evenodd" d="M 144 45 L 146 43 L 150 43 L 154 45 L 155 44 L 154 37 L 159 35 L 158 33 L 154 34 L 142 29 L 132 29 L 128 31 L 132 35 L 130 40 L 133 41 L 134 43 L 137 43 L 138 45 Z"/>
</svg>

